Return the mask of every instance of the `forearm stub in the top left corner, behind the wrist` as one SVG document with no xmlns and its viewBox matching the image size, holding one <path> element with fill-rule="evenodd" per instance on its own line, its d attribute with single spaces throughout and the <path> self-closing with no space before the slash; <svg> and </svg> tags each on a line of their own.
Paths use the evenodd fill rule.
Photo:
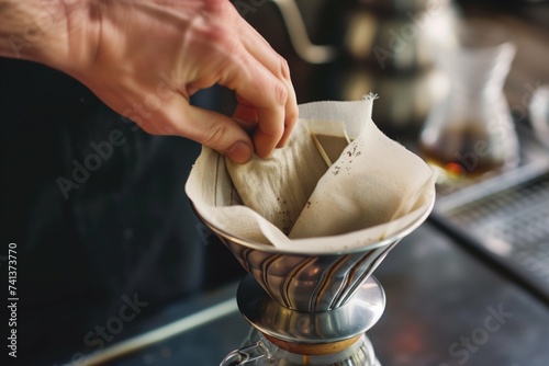
<svg viewBox="0 0 549 366">
<path fill-rule="evenodd" d="M 80 0 L 0 0 L 0 56 L 61 66 L 68 55 L 68 14 L 83 5 Z"/>
</svg>

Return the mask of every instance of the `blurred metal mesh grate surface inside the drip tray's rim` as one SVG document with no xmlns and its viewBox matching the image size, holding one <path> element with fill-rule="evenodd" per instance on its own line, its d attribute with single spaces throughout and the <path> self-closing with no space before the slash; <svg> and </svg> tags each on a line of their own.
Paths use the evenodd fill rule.
<svg viewBox="0 0 549 366">
<path fill-rule="evenodd" d="M 549 173 L 439 214 L 549 299 Z"/>
</svg>

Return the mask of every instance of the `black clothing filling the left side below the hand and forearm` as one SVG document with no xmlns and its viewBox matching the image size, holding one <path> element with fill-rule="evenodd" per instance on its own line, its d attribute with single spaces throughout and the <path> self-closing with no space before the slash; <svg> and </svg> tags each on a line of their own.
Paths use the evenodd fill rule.
<svg viewBox="0 0 549 366">
<path fill-rule="evenodd" d="M 150 136 L 72 78 L 1 58 L 0 121 L 0 259 L 16 243 L 22 365 L 108 346 L 98 332 L 128 301 L 144 319 L 202 288 L 208 243 L 183 190 L 198 144 Z"/>
</svg>

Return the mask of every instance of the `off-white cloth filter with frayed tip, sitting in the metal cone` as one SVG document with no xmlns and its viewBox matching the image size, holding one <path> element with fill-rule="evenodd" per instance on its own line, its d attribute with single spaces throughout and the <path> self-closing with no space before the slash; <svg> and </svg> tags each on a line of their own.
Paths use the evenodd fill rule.
<svg viewBox="0 0 549 366">
<path fill-rule="evenodd" d="M 194 208 L 227 235 L 284 252 L 332 253 L 391 238 L 432 208 L 436 176 L 376 127 L 372 102 L 300 105 L 288 146 L 266 160 L 234 164 L 203 147 L 186 184 Z M 328 169 L 307 124 L 333 122 L 345 124 L 352 142 Z"/>
</svg>

